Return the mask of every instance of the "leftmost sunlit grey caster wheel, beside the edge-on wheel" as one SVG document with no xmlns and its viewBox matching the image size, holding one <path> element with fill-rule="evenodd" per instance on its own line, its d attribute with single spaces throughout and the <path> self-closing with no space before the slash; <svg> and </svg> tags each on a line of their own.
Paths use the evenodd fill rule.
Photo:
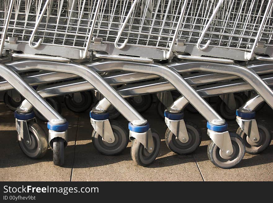
<svg viewBox="0 0 273 203">
<path fill-rule="evenodd" d="M 28 127 L 31 144 L 27 143 L 18 134 L 19 146 L 29 158 L 42 158 L 48 149 L 47 135 L 37 123 L 28 123 Z"/>
</svg>

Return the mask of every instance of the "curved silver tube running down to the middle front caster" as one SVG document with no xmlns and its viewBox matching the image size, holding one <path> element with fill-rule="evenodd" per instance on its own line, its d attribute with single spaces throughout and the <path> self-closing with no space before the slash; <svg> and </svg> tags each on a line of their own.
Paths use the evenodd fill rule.
<svg viewBox="0 0 273 203">
<path fill-rule="evenodd" d="M 120 111 L 120 113 L 130 122 L 141 121 L 143 124 L 147 122 L 132 106 L 123 99 L 101 76 L 87 67 L 78 63 L 58 63 L 45 61 L 27 61 L 15 62 L 12 66 L 17 70 L 47 70 L 71 73 L 78 75 L 92 84 L 111 104 Z"/>
</svg>

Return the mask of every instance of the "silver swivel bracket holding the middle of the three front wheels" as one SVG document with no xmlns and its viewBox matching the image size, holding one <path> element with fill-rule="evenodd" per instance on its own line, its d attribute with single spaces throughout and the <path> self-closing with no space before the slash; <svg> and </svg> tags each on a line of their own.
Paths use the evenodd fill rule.
<svg viewBox="0 0 273 203">
<path fill-rule="evenodd" d="M 132 141 L 132 138 L 135 138 L 139 141 L 149 153 L 154 151 L 154 140 L 152 136 L 151 128 L 146 132 L 133 132 L 130 130 L 129 138 Z"/>
</svg>

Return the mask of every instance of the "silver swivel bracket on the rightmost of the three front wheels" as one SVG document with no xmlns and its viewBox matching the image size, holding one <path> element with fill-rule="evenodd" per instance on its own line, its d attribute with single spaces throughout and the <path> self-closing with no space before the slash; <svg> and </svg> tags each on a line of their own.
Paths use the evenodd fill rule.
<svg viewBox="0 0 273 203">
<path fill-rule="evenodd" d="M 231 155 L 233 153 L 233 147 L 230 140 L 230 135 L 228 131 L 216 132 L 208 129 L 207 131 L 210 139 L 219 147 L 224 155 Z M 221 153 L 220 153 L 221 154 Z"/>
</svg>

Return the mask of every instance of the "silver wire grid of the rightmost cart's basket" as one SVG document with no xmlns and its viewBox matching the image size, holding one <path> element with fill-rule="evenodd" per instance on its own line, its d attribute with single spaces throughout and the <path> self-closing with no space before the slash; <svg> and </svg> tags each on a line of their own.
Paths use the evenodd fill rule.
<svg viewBox="0 0 273 203">
<path fill-rule="evenodd" d="M 190 1 L 178 38 L 184 39 L 186 45 L 196 45 L 217 3 L 218 1 L 213 0 Z M 209 46 L 212 47 L 250 51 L 261 26 L 266 6 L 268 6 L 267 0 L 223 1 L 201 45 L 209 40 Z M 266 46 L 273 46 L 272 4 L 269 6 L 270 12 L 266 16 L 266 23 L 259 40 L 265 41 Z"/>
</svg>

